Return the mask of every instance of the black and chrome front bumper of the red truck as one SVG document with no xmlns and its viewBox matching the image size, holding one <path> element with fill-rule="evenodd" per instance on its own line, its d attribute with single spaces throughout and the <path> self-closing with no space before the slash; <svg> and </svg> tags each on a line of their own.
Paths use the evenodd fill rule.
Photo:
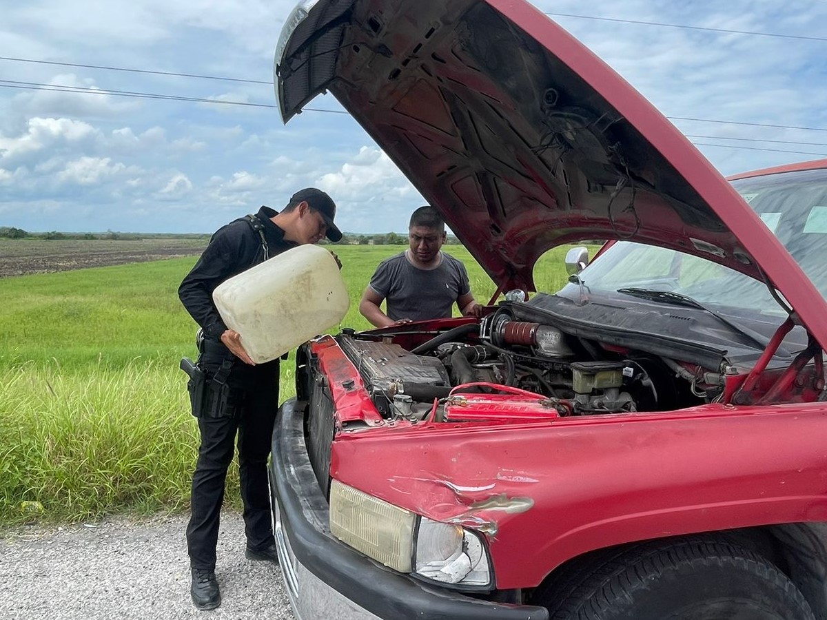
<svg viewBox="0 0 827 620">
<path fill-rule="evenodd" d="M 299 620 L 547 620 L 545 608 L 490 603 L 423 584 L 332 537 L 327 500 L 304 444 L 303 411 L 294 398 L 281 406 L 270 467 L 282 575 Z"/>
</svg>

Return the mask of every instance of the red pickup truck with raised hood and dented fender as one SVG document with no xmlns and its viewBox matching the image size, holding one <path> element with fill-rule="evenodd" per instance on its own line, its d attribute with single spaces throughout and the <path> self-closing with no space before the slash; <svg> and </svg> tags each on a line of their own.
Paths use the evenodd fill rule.
<svg viewBox="0 0 827 620">
<path fill-rule="evenodd" d="M 523 0 L 302 2 L 275 75 L 285 122 L 332 93 L 509 293 L 299 349 L 271 467 L 298 618 L 827 618 L 827 160 L 723 179 Z"/>
</svg>

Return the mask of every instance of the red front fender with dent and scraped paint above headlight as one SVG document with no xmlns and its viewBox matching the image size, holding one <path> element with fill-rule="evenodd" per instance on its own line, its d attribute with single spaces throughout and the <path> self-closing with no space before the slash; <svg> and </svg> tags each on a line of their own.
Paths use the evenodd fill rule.
<svg viewBox="0 0 827 620">
<path fill-rule="evenodd" d="M 330 473 L 485 534 L 497 587 L 533 587 L 606 546 L 827 521 L 827 406 L 773 409 L 371 428 L 336 437 Z"/>
</svg>

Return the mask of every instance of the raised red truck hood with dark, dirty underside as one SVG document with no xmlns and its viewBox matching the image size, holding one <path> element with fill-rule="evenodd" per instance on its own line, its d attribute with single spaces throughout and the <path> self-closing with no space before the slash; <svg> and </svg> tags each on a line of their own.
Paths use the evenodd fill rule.
<svg viewBox="0 0 827 620">
<path fill-rule="evenodd" d="M 552 246 L 628 239 L 815 292 L 681 132 L 523 0 L 307 0 L 275 88 L 285 122 L 331 92 L 500 290 L 534 290 Z"/>
</svg>

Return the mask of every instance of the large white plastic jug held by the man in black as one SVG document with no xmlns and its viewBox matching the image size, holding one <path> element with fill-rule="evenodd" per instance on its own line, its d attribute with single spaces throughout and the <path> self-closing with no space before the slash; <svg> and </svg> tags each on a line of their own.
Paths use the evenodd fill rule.
<svg viewBox="0 0 827 620">
<path fill-rule="evenodd" d="M 213 301 L 256 364 L 337 325 L 350 306 L 336 259 L 311 245 L 286 250 L 225 280 L 213 291 Z"/>
</svg>

